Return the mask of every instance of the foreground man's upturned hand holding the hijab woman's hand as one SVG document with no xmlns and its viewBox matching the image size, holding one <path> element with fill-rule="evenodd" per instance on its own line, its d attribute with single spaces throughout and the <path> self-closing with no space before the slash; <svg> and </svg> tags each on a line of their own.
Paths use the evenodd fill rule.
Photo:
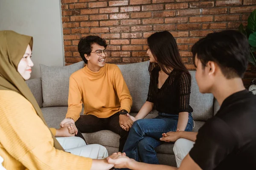
<svg viewBox="0 0 256 170">
<path fill-rule="evenodd" d="M 107 161 L 109 164 L 115 164 L 114 167 L 116 168 L 127 168 L 131 159 L 128 158 L 125 153 L 119 152 L 108 156 Z"/>
</svg>

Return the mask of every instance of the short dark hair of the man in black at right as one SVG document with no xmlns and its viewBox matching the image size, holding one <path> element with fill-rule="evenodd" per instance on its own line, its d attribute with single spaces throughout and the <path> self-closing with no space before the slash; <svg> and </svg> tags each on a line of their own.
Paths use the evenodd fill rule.
<svg viewBox="0 0 256 170">
<path fill-rule="evenodd" d="M 207 62 L 218 64 L 227 79 L 243 77 L 248 65 L 250 46 L 243 34 L 225 30 L 208 34 L 192 46 L 193 56 L 201 61 L 203 69 Z M 195 58 L 194 58 L 195 63 Z"/>
</svg>

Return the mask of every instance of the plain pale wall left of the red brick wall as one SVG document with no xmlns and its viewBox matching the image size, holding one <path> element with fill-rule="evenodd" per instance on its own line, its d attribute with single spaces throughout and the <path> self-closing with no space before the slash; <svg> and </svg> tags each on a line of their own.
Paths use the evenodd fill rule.
<svg viewBox="0 0 256 170">
<path fill-rule="evenodd" d="M 64 65 L 60 0 L 0 0 L 0 30 L 33 37 L 32 78 L 41 77 L 39 64 Z"/>
</svg>

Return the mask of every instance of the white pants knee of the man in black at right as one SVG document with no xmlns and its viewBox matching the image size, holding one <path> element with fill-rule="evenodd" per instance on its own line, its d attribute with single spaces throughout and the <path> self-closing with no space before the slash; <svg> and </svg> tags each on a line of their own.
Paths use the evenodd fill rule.
<svg viewBox="0 0 256 170">
<path fill-rule="evenodd" d="M 180 167 L 181 161 L 189 153 L 194 144 L 195 142 L 183 138 L 180 138 L 175 142 L 173 152 L 175 154 L 177 167 Z"/>
</svg>

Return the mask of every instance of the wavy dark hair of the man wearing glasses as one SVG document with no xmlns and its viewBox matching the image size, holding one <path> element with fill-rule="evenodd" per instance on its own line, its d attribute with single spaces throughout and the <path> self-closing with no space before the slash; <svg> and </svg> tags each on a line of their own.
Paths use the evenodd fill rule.
<svg viewBox="0 0 256 170">
<path fill-rule="evenodd" d="M 92 52 L 92 45 L 94 43 L 104 46 L 105 48 L 108 46 L 106 41 L 99 36 L 89 35 L 87 37 L 82 37 L 78 43 L 78 51 L 81 58 L 84 60 L 84 63 L 88 62 L 84 57 L 84 54 L 90 56 L 90 53 Z"/>
</svg>

